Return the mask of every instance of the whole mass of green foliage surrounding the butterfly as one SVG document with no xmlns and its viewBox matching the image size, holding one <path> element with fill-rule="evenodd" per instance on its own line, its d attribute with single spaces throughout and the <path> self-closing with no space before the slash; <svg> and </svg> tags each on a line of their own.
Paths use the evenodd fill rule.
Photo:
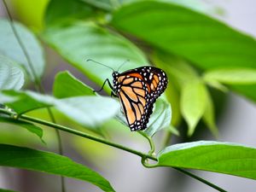
<svg viewBox="0 0 256 192">
<path fill-rule="evenodd" d="M 98 96 L 72 73 L 57 73 L 52 95 L 44 94 L 40 83 L 46 65 L 42 44 L 26 26 L 5 19 L 0 20 L 0 123 L 25 128 L 42 141 L 41 125 L 67 131 L 137 154 L 146 167 L 200 169 L 256 179 L 256 148 L 201 141 L 164 146 L 155 156 L 152 138 L 158 131 L 167 138 L 178 135 L 174 127 L 181 125 L 182 119 L 187 122 L 189 137 L 195 134 L 201 119 L 217 135 L 209 86 L 218 91 L 236 91 L 256 102 L 256 41 L 173 1 L 120 2 L 51 0 L 39 37 L 99 85 L 111 79 L 112 71 L 87 59 L 113 70 L 129 59 L 121 71 L 150 63 L 166 71 L 170 79 L 166 95 L 154 104 L 148 129 L 140 132 L 150 144 L 148 154 L 102 138 L 106 121 L 115 118 L 125 124 L 119 103 L 108 96 Z M 28 90 L 24 84 L 34 84 L 41 91 Z M 104 89 L 110 93 L 108 86 Z M 80 125 L 84 130 L 25 114 L 38 108 L 55 108 L 66 115 L 71 127 Z M 100 174 L 59 154 L 6 144 L 0 145 L 0 154 L 4 154 L 0 155 L 1 166 L 78 178 L 104 191 L 114 190 Z M 148 165 L 147 160 L 156 163 Z"/>
</svg>

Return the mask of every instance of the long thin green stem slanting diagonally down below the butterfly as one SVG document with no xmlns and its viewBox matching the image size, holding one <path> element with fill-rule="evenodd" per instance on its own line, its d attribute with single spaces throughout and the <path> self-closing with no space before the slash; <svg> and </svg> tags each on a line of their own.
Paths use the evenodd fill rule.
<svg viewBox="0 0 256 192">
<path fill-rule="evenodd" d="M 4 114 L 7 114 L 9 115 L 10 118 L 12 117 L 18 117 L 16 115 L 16 113 L 14 112 L 11 112 L 7 109 L 4 109 L 4 108 L 0 108 L 0 113 L 4 113 Z M 148 164 L 148 162 L 146 162 L 148 159 L 149 160 L 155 160 L 157 161 L 157 158 L 154 157 L 153 155 L 150 155 L 150 154 L 144 154 L 140 151 L 137 151 L 137 150 L 134 150 L 132 148 L 127 148 L 125 146 L 122 146 L 122 145 L 119 145 L 117 143 L 112 143 L 108 140 L 105 140 L 105 139 L 102 139 L 102 138 L 99 138 L 99 137 L 95 137 L 95 136 L 91 136 L 87 133 L 84 133 L 84 132 L 81 132 L 81 131 L 77 131 L 77 130 L 73 130 L 67 126 L 63 126 L 63 125 L 57 125 L 57 124 L 54 124 L 54 123 L 51 123 L 49 121 L 45 121 L 43 119 L 37 119 L 37 118 L 33 118 L 33 117 L 30 117 L 30 116 L 27 116 L 25 114 L 21 114 L 19 116 L 19 119 L 24 119 L 24 120 L 27 120 L 27 121 L 30 121 L 30 122 L 33 122 L 33 123 L 38 123 L 40 125 L 46 125 L 48 127 L 52 127 L 52 128 L 55 128 L 55 129 L 58 129 L 58 130 L 61 130 L 61 131 L 66 131 L 66 132 L 69 132 L 69 133 L 72 133 L 74 135 L 77 135 L 77 136 L 80 136 L 80 137 L 84 137 L 84 138 L 88 138 L 90 140 L 93 140 L 93 141 L 96 141 L 96 142 L 99 142 L 99 143 L 104 143 L 104 144 L 107 144 L 109 146 L 112 146 L 114 148 L 119 148 L 119 149 L 122 149 L 122 150 L 125 150 L 127 152 L 130 152 L 131 154 L 137 154 L 139 155 L 140 157 L 142 157 L 142 163 L 143 163 L 143 166 L 146 166 L 148 168 L 152 168 L 152 167 L 157 167 L 158 165 L 157 164 L 154 164 L 154 165 L 150 165 Z M 152 147 L 151 147 L 152 149 Z M 173 169 L 176 169 L 178 172 L 183 172 L 183 174 L 185 175 L 188 175 L 190 177 L 194 177 L 195 179 L 197 179 L 198 181 L 201 181 L 202 183 L 205 183 L 207 184 L 208 186 L 214 188 L 214 189 L 217 189 L 218 191 L 221 191 L 221 192 L 225 192 L 224 189 L 220 189 L 218 186 L 212 184 L 212 183 L 209 183 L 207 182 L 206 180 L 204 180 L 203 178 L 201 177 L 197 177 L 195 176 L 193 173 L 191 172 L 187 172 L 181 168 L 177 168 L 177 167 L 172 167 Z"/>
</svg>

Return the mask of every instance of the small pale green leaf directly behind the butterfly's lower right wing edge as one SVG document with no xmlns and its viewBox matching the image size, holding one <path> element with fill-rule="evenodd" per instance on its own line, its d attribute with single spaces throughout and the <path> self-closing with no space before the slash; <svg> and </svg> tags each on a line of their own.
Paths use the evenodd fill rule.
<svg viewBox="0 0 256 192">
<path fill-rule="evenodd" d="M 153 137 L 157 131 L 170 127 L 171 120 L 172 108 L 170 103 L 163 99 L 158 99 L 154 103 L 154 110 L 149 119 L 148 128 L 144 132 L 149 137 Z"/>
</svg>

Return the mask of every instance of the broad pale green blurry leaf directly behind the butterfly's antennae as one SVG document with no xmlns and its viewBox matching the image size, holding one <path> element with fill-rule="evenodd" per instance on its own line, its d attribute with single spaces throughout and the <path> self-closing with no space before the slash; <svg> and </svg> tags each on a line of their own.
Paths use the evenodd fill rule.
<svg viewBox="0 0 256 192">
<path fill-rule="evenodd" d="M 101 62 L 114 70 L 127 59 L 130 62 L 122 70 L 148 64 L 142 51 L 131 42 L 92 23 L 79 22 L 71 26 L 49 28 L 44 38 L 69 63 L 101 85 L 105 79 L 112 79 L 113 71 L 87 59 Z M 105 89 L 110 90 L 108 86 Z"/>
</svg>

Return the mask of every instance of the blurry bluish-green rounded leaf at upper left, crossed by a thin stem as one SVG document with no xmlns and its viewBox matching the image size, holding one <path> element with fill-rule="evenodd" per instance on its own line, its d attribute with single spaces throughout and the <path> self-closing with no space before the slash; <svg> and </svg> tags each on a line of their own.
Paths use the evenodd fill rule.
<svg viewBox="0 0 256 192">
<path fill-rule="evenodd" d="M 45 65 L 44 51 L 41 44 L 39 44 L 38 39 L 25 26 L 17 22 L 14 24 L 20 37 L 20 41 L 22 44 L 24 44 L 26 52 L 30 57 L 32 67 L 34 68 L 37 78 L 40 78 L 44 73 Z M 20 48 L 20 44 L 18 44 L 18 41 L 15 38 L 9 20 L 0 20 L 0 42 L 0 54 L 9 57 L 13 61 L 16 61 L 26 69 L 26 72 L 29 73 L 29 77 L 34 79 L 32 69 L 26 60 L 26 56 Z"/>
</svg>

